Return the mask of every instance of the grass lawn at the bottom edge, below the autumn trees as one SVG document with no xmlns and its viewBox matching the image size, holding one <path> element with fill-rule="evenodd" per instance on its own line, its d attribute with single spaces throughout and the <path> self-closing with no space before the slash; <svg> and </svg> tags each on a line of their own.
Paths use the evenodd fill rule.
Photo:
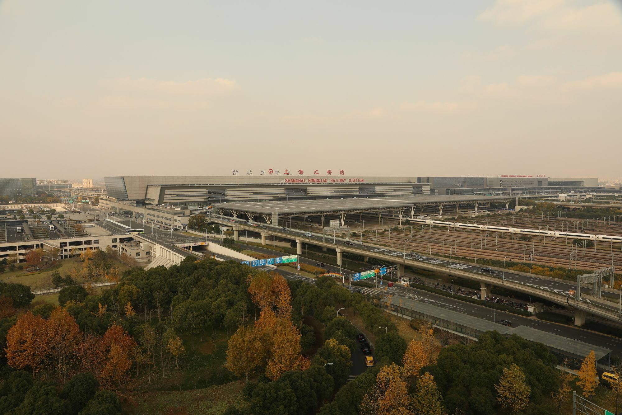
<svg viewBox="0 0 622 415">
<path fill-rule="evenodd" d="M 242 401 L 244 381 L 233 381 L 192 391 L 151 391 L 129 394 L 132 414 L 218 415 Z"/>
</svg>

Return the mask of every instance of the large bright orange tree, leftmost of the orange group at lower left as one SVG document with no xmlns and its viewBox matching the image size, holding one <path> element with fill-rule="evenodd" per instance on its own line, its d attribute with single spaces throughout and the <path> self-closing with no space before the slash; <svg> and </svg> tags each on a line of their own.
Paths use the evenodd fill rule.
<svg viewBox="0 0 622 415">
<path fill-rule="evenodd" d="M 6 358 L 12 368 L 29 367 L 32 374 L 42 368 L 47 354 L 45 320 L 31 312 L 22 314 L 6 335 Z"/>
</svg>

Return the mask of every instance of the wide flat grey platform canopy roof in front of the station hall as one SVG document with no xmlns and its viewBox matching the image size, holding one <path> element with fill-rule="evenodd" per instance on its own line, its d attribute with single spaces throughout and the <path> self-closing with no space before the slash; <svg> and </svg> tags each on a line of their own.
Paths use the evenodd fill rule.
<svg viewBox="0 0 622 415">
<path fill-rule="evenodd" d="M 452 194 L 447 196 L 417 195 L 397 198 L 353 198 L 313 199 L 295 201 L 217 203 L 216 210 L 249 212 L 253 214 L 278 214 L 284 216 L 305 216 L 313 214 L 336 214 L 358 212 L 382 212 L 408 209 L 416 206 L 445 205 L 456 203 L 501 202 L 512 196 L 473 196 Z"/>
</svg>

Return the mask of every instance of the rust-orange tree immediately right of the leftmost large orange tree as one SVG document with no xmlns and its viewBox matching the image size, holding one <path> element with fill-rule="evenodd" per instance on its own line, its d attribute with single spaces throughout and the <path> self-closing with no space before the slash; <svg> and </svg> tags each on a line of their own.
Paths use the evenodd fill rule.
<svg viewBox="0 0 622 415">
<path fill-rule="evenodd" d="M 50 364 L 58 378 L 65 381 L 74 359 L 78 356 L 81 333 L 75 319 L 58 307 L 45 322 L 45 346 L 49 350 Z"/>
</svg>

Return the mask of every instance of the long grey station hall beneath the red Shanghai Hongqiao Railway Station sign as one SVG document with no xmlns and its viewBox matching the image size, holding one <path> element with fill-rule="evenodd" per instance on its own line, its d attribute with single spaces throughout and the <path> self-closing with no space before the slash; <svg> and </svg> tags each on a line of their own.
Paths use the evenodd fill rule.
<svg viewBox="0 0 622 415">
<path fill-rule="evenodd" d="M 378 176 L 110 176 L 110 198 L 144 204 L 204 206 L 231 201 L 334 199 L 429 194 L 416 177 Z"/>
</svg>

